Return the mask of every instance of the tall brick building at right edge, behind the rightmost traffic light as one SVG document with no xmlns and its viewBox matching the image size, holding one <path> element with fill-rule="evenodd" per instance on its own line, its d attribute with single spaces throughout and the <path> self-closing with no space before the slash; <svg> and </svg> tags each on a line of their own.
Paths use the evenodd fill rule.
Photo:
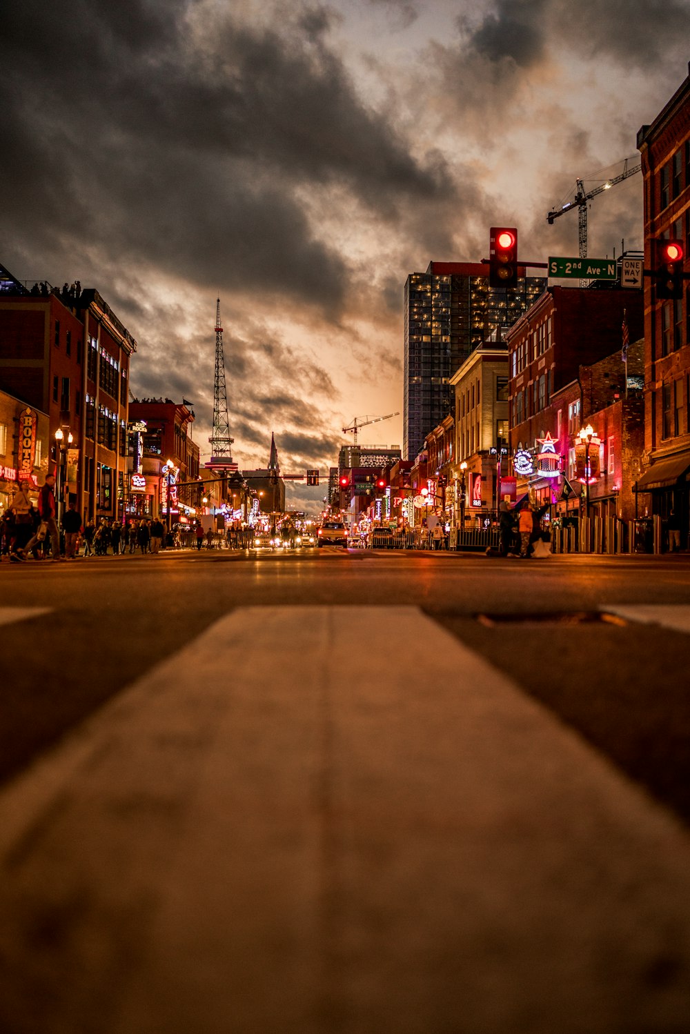
<svg viewBox="0 0 690 1034">
<path fill-rule="evenodd" d="M 690 71 L 690 66 L 689 66 Z M 690 74 L 651 125 L 637 133 L 644 178 L 644 266 L 658 263 L 657 242 L 680 239 L 690 273 Z M 681 515 L 688 545 L 690 521 L 690 282 L 683 297 L 657 297 L 644 278 L 644 458 L 638 482 L 653 514 Z M 641 499 L 640 499 L 641 501 Z"/>
</svg>

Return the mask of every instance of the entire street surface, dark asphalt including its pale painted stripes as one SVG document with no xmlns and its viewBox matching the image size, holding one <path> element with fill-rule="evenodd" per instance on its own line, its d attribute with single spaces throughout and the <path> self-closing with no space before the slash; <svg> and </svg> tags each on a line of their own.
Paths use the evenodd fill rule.
<svg viewBox="0 0 690 1034">
<path fill-rule="evenodd" d="M 0 565 L 0 1029 L 685 1034 L 690 557 Z"/>
</svg>

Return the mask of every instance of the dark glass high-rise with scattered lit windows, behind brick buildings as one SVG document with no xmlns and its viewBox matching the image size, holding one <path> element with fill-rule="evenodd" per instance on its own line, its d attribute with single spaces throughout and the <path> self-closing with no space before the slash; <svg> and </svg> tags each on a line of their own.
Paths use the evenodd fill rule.
<svg viewBox="0 0 690 1034">
<path fill-rule="evenodd" d="M 491 288 L 482 263 L 430 262 L 404 285 L 402 454 L 414 459 L 424 437 L 454 413 L 450 378 L 497 327 L 510 327 L 546 287 L 522 274 L 515 290 Z"/>
</svg>

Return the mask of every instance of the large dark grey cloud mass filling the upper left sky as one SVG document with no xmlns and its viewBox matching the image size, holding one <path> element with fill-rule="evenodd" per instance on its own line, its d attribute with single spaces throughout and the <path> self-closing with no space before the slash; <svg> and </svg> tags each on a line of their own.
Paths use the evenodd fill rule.
<svg viewBox="0 0 690 1034">
<path fill-rule="evenodd" d="M 299 192 L 344 186 L 373 219 L 397 220 L 416 196 L 450 191 L 448 173 L 416 160 L 358 97 L 328 49 L 326 9 L 296 5 L 280 34 L 233 21 L 231 5 L 210 25 L 197 10 L 5 9 L 7 229 L 18 251 L 33 237 L 46 261 L 100 246 L 199 284 L 261 279 L 265 294 L 332 315 L 350 271 Z"/>
</svg>

